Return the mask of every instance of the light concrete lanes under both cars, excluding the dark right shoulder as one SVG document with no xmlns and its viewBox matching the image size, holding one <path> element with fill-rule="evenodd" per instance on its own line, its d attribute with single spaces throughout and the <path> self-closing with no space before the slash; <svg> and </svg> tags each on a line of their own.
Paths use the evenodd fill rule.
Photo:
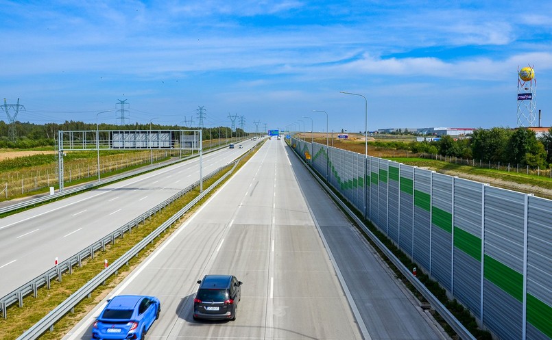
<svg viewBox="0 0 552 340">
<path fill-rule="evenodd" d="M 283 145 L 265 144 L 114 291 L 160 298 L 150 339 L 362 339 L 297 183 L 280 183 L 290 175 Z M 276 205 L 289 191 L 293 199 Z M 235 322 L 193 321 L 204 274 L 243 281 Z M 65 339 L 90 339 L 99 309 Z"/>
</svg>

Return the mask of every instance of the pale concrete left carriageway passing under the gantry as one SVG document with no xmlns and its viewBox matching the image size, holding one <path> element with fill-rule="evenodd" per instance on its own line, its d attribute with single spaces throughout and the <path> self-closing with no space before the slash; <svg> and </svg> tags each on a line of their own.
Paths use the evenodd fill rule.
<svg viewBox="0 0 552 340">
<path fill-rule="evenodd" d="M 257 141 L 257 142 L 260 142 Z M 204 176 L 256 144 L 203 156 Z M 200 179 L 199 157 L 0 220 L 0 297 Z"/>
</svg>

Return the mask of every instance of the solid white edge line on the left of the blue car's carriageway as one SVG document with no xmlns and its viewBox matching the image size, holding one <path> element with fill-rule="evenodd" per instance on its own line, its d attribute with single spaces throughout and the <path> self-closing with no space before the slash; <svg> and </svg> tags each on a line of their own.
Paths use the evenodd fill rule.
<svg viewBox="0 0 552 340">
<path fill-rule="evenodd" d="M 226 185 L 228 185 L 228 183 L 230 183 L 230 181 L 232 181 L 234 176 L 236 174 L 238 174 L 241 170 L 243 170 L 243 168 L 244 167 L 240 168 L 237 172 L 235 172 L 234 175 L 230 176 L 228 181 L 226 181 L 226 183 L 224 183 L 224 185 L 222 185 L 219 189 L 217 189 L 217 191 L 213 194 L 213 196 L 208 198 L 208 200 L 206 200 L 206 202 L 199 209 L 197 209 L 197 211 L 195 211 L 195 213 L 193 213 L 193 215 L 191 215 L 190 218 L 186 222 L 184 222 L 180 227 L 178 227 L 178 229 L 176 229 L 176 231 L 167 239 L 167 241 L 163 242 L 163 244 L 161 244 L 161 246 L 159 246 L 159 248 L 154 250 L 154 252 L 151 255 L 149 255 L 149 257 L 147 257 L 145 262 L 143 262 L 141 265 L 139 265 L 139 267 L 137 267 L 135 270 L 133 270 L 131 272 L 130 276 L 127 276 L 127 278 L 125 279 L 126 281 L 123 280 L 123 282 L 119 284 L 120 287 L 116 291 L 112 291 L 112 293 L 108 293 L 108 296 L 117 296 L 128 285 L 130 285 L 130 283 L 132 283 L 132 281 L 136 277 L 139 276 L 139 274 L 145 269 L 145 267 L 147 267 L 147 265 L 149 265 L 149 263 L 154 261 L 154 259 L 158 256 L 158 254 L 160 254 L 161 252 L 163 252 L 163 250 L 165 248 L 167 248 L 167 246 L 173 241 L 173 239 L 175 239 L 178 236 L 178 234 L 180 234 L 180 232 L 183 231 L 184 228 L 186 228 L 186 226 L 188 226 L 188 224 L 190 224 L 193 221 L 195 216 L 198 215 L 204 209 L 204 207 L 206 207 L 209 204 L 209 202 L 211 202 L 211 200 L 213 200 L 219 194 L 219 192 L 221 192 L 222 189 L 224 189 L 224 187 L 226 187 Z M 230 224 L 232 224 L 233 222 L 234 222 L 234 220 L 232 220 L 230 222 Z M 12 261 L 12 262 L 14 262 L 14 261 Z M 8 264 L 10 264 L 10 263 L 8 263 Z M 75 330 L 75 332 L 73 332 L 72 334 L 69 333 L 69 332 L 71 332 L 71 330 L 69 330 L 69 332 L 67 332 L 67 334 L 64 336 L 64 338 L 67 337 L 67 335 L 69 335 L 69 338 L 67 338 L 67 340 L 75 340 L 80 335 L 84 335 L 84 330 L 86 328 L 88 328 L 92 324 L 92 322 L 99 316 L 99 313 L 101 313 L 101 311 L 104 310 L 106 304 L 107 304 L 107 302 L 104 301 L 104 303 L 101 304 L 100 308 L 99 308 L 99 305 L 96 306 L 95 309 L 93 309 L 93 311 L 90 312 L 90 314 L 92 314 L 91 317 L 88 317 L 88 319 L 86 319 L 86 321 L 84 321 L 82 323 L 82 325 L 80 325 L 80 327 L 77 328 L 77 330 Z"/>
</svg>

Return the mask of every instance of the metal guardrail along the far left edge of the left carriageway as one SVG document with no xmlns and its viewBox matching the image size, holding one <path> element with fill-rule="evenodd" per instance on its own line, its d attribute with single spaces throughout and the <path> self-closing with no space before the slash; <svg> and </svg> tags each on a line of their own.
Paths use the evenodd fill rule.
<svg viewBox="0 0 552 340">
<path fill-rule="evenodd" d="M 205 151 L 204 153 L 212 153 L 213 151 L 220 150 L 221 148 L 226 148 L 225 146 L 219 146 L 215 148 L 211 148 L 208 151 Z M 49 200 L 56 200 L 58 198 L 62 198 L 63 196 L 75 194 L 75 192 L 82 192 L 87 189 L 92 189 L 93 187 L 101 187 L 102 185 L 106 185 L 112 182 L 120 181 L 121 179 L 125 179 L 127 177 L 136 176 L 138 174 L 143 174 L 145 172 L 149 172 L 152 170 L 157 170 L 159 168 L 164 168 L 165 166 L 171 166 L 173 164 L 179 163 L 180 161 L 187 161 L 188 159 L 191 159 L 193 157 L 197 157 L 197 155 L 191 155 L 188 157 L 183 157 L 181 159 L 175 159 L 174 161 L 168 161 L 165 163 L 156 164 L 155 166 L 145 166 L 143 168 L 140 168 L 139 170 L 135 170 L 132 172 L 127 172 L 125 174 L 119 174 L 117 176 L 112 176 L 107 179 L 102 179 L 100 181 L 94 181 L 91 183 L 86 183 L 84 185 L 79 185 L 76 187 L 71 187 L 69 189 L 64 189 L 62 192 L 57 192 L 53 195 L 47 195 L 39 198 L 34 198 L 32 200 L 25 200 L 24 202 L 16 203 L 14 205 L 9 205 L 8 207 L 0 208 L 0 215 L 2 213 L 9 213 L 10 211 L 15 211 L 18 209 L 24 209 L 27 207 L 32 207 L 33 205 L 38 205 L 43 202 L 48 202 Z"/>
</svg>

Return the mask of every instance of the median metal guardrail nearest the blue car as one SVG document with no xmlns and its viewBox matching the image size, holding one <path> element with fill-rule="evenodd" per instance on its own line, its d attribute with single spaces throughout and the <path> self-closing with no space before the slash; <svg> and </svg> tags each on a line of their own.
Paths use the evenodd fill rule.
<svg viewBox="0 0 552 340">
<path fill-rule="evenodd" d="M 228 177 L 232 172 L 235 170 L 238 161 L 235 161 L 234 166 L 232 169 L 224 176 L 222 176 L 220 179 L 218 179 L 213 185 L 208 187 L 202 194 L 198 195 L 196 198 L 194 198 L 191 202 L 189 202 L 185 207 L 180 209 L 178 213 L 175 213 L 172 215 L 169 220 L 165 221 L 163 224 L 161 224 L 158 228 L 156 228 L 155 231 L 147 235 L 142 241 L 140 241 L 136 246 L 132 247 L 128 252 L 125 252 L 123 256 L 119 257 L 115 262 L 112 263 L 109 267 L 107 267 L 105 270 L 103 270 L 101 273 L 97 274 L 92 280 L 88 281 L 84 286 L 82 286 L 80 289 L 75 291 L 75 293 L 71 294 L 67 300 L 62 302 L 60 305 L 58 305 L 53 311 L 48 313 L 43 319 L 40 319 L 39 322 L 34 324 L 31 328 L 26 330 L 23 335 L 17 338 L 17 340 L 33 340 L 40 335 L 42 335 L 47 330 L 53 330 L 53 325 L 56 324 L 65 314 L 69 313 L 81 300 L 86 298 L 88 294 L 90 294 L 94 289 L 96 289 L 99 285 L 102 285 L 104 281 L 109 278 L 112 274 L 115 274 L 123 265 L 128 263 L 132 257 L 135 257 L 136 254 L 138 254 L 143 248 L 145 248 L 150 242 L 154 241 L 156 237 L 158 237 L 163 231 L 165 231 L 167 228 L 169 228 L 174 222 L 176 222 L 184 213 L 186 213 L 193 205 L 195 205 L 197 202 L 199 202 L 206 194 L 211 192 L 213 188 L 215 188 L 221 181 L 224 181 L 226 177 Z M 220 169 L 219 169 L 220 170 Z M 217 172 L 219 171 L 217 170 Z M 213 173 L 212 173 L 213 174 Z"/>
</svg>

